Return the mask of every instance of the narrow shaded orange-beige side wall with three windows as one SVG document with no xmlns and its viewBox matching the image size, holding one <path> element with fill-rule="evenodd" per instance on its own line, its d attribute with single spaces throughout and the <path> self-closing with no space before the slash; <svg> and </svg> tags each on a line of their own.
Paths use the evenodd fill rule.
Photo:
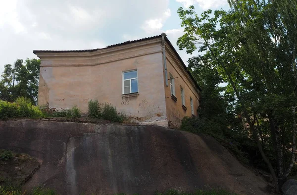
<svg viewBox="0 0 297 195">
<path fill-rule="evenodd" d="M 180 60 L 173 53 L 173 50 L 167 44 L 165 48 L 168 79 L 170 78 L 170 74 L 175 78 L 175 97 L 177 98 L 176 102 L 171 98 L 170 80 L 168 80 L 168 87 L 166 87 L 164 80 L 167 119 L 171 121 L 174 126 L 179 127 L 181 125 L 181 120 L 185 116 L 192 116 L 190 97 L 193 99 L 195 116 L 198 115 L 199 93 Z M 182 108 L 181 87 L 184 89 L 187 111 Z"/>
</svg>

